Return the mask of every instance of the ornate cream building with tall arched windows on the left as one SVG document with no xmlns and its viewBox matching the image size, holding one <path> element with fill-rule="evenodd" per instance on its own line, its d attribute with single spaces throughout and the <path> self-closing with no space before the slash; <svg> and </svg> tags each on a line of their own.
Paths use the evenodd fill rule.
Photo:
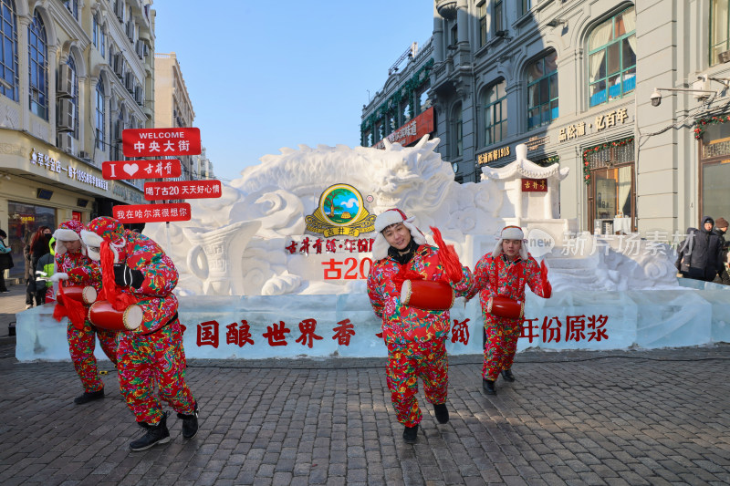
<svg viewBox="0 0 730 486">
<path fill-rule="evenodd" d="M 16 268 L 29 233 L 142 203 L 104 181 L 121 130 L 153 126 L 150 0 L 0 0 L 0 228 Z"/>
</svg>

